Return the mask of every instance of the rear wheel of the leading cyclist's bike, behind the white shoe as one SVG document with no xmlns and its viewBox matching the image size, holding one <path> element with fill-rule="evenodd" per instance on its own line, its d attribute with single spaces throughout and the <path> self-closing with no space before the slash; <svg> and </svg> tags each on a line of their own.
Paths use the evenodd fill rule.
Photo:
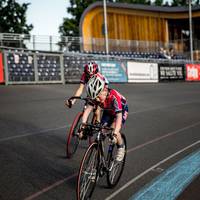
<svg viewBox="0 0 200 200">
<path fill-rule="evenodd" d="M 108 166 L 109 170 L 107 172 L 107 183 L 109 187 L 114 187 L 120 180 L 120 177 L 124 170 L 124 165 L 126 161 L 126 152 L 127 152 L 127 144 L 126 144 L 126 137 L 122 134 L 122 140 L 125 145 L 125 155 L 122 161 L 116 161 L 116 152 L 117 152 L 117 145 L 113 145 L 113 148 L 110 152 L 108 152 Z"/>
</svg>

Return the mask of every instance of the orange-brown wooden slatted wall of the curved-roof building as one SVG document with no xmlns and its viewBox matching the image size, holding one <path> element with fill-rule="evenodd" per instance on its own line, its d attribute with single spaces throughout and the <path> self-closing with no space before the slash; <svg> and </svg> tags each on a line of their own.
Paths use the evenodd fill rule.
<svg viewBox="0 0 200 200">
<path fill-rule="evenodd" d="M 193 16 L 200 16 L 200 11 L 194 12 Z M 129 8 L 113 8 L 108 6 L 108 38 L 111 40 L 137 40 L 168 43 L 168 20 L 187 18 L 188 12 L 170 13 Z M 84 14 L 84 19 L 81 23 L 81 31 L 84 50 L 104 49 L 103 6 L 93 7 Z M 112 50 L 112 42 L 110 42 L 109 47 L 109 49 Z"/>
</svg>

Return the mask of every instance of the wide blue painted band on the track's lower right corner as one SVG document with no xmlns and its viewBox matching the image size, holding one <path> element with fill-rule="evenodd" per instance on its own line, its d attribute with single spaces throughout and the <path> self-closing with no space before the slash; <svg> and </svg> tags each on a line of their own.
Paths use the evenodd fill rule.
<svg viewBox="0 0 200 200">
<path fill-rule="evenodd" d="M 174 200 L 200 174 L 200 150 L 171 166 L 129 200 Z"/>
</svg>

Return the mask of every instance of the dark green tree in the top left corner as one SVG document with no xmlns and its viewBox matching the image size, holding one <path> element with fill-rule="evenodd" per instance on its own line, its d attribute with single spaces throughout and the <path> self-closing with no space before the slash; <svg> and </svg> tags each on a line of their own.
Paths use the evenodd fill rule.
<svg viewBox="0 0 200 200">
<path fill-rule="evenodd" d="M 0 33 L 29 34 L 33 25 L 26 22 L 28 5 L 20 5 L 15 0 L 0 0 Z"/>
</svg>

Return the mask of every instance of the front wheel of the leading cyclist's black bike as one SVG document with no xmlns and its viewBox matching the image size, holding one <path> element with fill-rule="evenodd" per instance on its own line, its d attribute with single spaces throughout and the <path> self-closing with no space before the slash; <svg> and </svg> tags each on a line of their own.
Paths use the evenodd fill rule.
<svg viewBox="0 0 200 200">
<path fill-rule="evenodd" d="M 92 143 L 81 161 L 77 178 L 77 200 L 90 199 L 98 178 L 99 155 L 97 143 Z"/>
</svg>

